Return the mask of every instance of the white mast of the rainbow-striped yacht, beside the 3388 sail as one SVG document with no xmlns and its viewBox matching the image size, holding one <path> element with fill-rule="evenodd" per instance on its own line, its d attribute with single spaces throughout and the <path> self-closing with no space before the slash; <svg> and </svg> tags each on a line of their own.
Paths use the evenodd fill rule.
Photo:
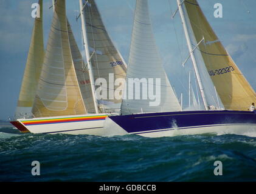
<svg viewBox="0 0 256 194">
<path fill-rule="evenodd" d="M 98 103 L 95 98 L 94 75 L 92 73 L 91 56 L 89 54 L 88 40 L 87 40 L 87 36 L 86 36 L 85 17 L 83 14 L 84 7 L 83 7 L 82 0 L 79 0 L 79 4 L 80 4 L 80 15 L 81 15 L 81 27 L 82 27 L 82 31 L 83 31 L 83 41 L 84 41 L 84 45 L 85 45 L 85 55 L 86 55 L 86 61 L 87 61 L 87 65 L 88 65 L 88 72 L 89 72 L 89 78 L 90 78 L 91 89 L 92 89 L 92 98 L 94 101 L 95 113 L 99 113 Z M 85 6 L 86 6 L 86 4 L 85 4 Z"/>
</svg>

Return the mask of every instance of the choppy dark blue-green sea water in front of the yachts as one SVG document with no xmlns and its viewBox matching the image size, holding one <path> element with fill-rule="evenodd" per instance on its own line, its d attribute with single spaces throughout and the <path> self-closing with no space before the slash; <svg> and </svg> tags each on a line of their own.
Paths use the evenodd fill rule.
<svg viewBox="0 0 256 194">
<path fill-rule="evenodd" d="M 31 174 L 32 161 L 40 162 L 40 176 Z M 215 161 L 222 176 L 213 173 Z M 34 135 L 2 127 L 0 181 L 256 181 L 256 138 Z"/>
</svg>

